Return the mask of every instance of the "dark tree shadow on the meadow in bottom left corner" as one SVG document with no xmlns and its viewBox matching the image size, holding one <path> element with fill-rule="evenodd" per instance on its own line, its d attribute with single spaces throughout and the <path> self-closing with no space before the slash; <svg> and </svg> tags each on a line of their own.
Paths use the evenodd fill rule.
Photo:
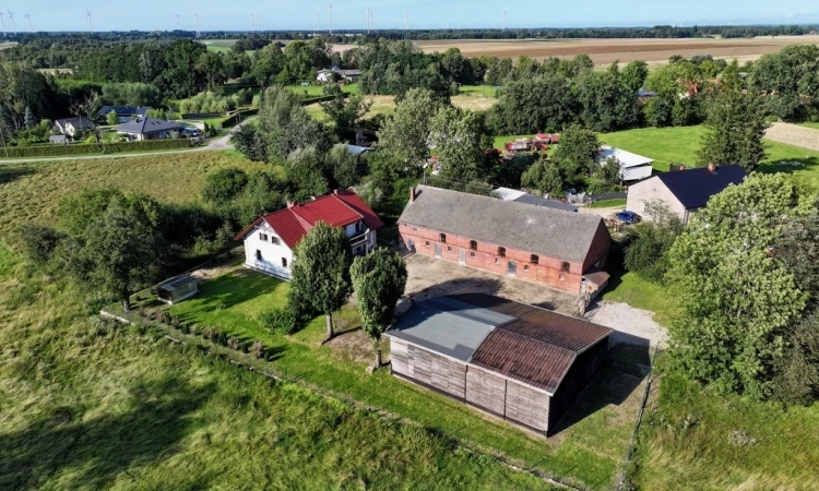
<svg viewBox="0 0 819 491">
<path fill-rule="evenodd" d="M 215 390 L 169 376 L 131 387 L 122 414 L 83 420 L 78 407 L 55 407 L 24 430 L 0 434 L 0 489 L 40 488 L 52 476 L 68 489 L 107 488 L 122 472 L 177 452 L 195 428 L 189 415 Z"/>
</svg>

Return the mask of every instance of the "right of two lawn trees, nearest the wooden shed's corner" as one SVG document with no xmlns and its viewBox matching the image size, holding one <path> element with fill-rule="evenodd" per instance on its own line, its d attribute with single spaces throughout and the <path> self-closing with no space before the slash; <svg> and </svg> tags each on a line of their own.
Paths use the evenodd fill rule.
<svg viewBox="0 0 819 491">
<path fill-rule="evenodd" d="M 376 367 L 381 366 L 381 334 L 392 324 L 395 306 L 406 287 L 406 264 L 397 252 L 376 249 L 356 258 L 349 270 L 361 328 L 376 348 Z"/>
</svg>

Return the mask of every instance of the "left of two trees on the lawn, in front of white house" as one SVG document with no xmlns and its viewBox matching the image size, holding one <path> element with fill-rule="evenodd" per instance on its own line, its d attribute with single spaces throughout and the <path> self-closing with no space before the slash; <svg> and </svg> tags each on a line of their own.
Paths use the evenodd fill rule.
<svg viewBox="0 0 819 491">
<path fill-rule="evenodd" d="M 301 318 L 305 312 L 327 316 L 328 338 L 333 337 L 332 313 L 351 294 L 349 240 L 341 228 L 317 224 L 293 251 L 288 306 Z"/>
</svg>

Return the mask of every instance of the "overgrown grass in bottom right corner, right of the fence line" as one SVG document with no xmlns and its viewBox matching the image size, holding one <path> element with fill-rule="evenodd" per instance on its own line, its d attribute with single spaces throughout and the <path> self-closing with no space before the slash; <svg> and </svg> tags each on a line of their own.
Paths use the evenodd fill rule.
<svg viewBox="0 0 819 491">
<path fill-rule="evenodd" d="M 819 404 L 783 408 L 719 397 L 674 373 L 639 438 L 634 483 L 645 490 L 815 490 Z"/>
</svg>

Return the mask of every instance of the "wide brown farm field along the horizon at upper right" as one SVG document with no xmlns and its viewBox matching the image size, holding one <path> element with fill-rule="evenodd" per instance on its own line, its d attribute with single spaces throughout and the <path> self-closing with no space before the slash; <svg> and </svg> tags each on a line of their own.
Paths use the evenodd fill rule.
<svg viewBox="0 0 819 491">
<path fill-rule="evenodd" d="M 483 55 L 495 57 L 527 56 L 537 60 L 548 57 L 573 58 L 586 53 L 595 64 L 614 61 L 643 60 L 665 62 L 673 55 L 690 58 L 695 55 L 712 55 L 714 58 L 734 59 L 740 62 L 755 60 L 769 52 L 778 52 L 794 44 L 819 44 L 819 36 L 778 36 L 752 39 L 554 39 L 554 40 L 429 40 L 417 41 L 425 52 L 443 52 L 459 48 L 465 57 Z"/>
</svg>

